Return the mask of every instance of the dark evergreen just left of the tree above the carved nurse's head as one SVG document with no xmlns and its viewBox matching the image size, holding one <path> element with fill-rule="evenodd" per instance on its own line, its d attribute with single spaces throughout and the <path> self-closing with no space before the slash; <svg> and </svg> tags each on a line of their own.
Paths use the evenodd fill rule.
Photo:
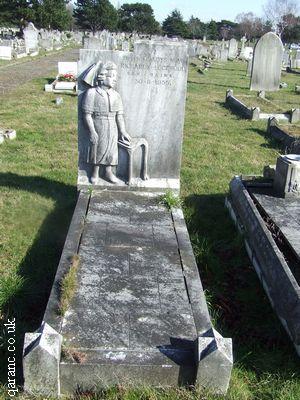
<svg viewBox="0 0 300 400">
<path fill-rule="evenodd" d="M 36 10 L 36 23 L 39 28 L 67 30 L 71 26 L 71 16 L 67 11 L 66 0 L 42 0 Z"/>
</svg>

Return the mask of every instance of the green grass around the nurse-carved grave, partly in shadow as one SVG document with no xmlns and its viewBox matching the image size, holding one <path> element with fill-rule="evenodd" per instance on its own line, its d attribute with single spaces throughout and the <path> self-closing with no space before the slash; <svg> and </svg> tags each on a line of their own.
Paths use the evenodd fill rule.
<svg viewBox="0 0 300 400">
<path fill-rule="evenodd" d="M 280 152 L 265 134 L 265 121 L 243 120 L 224 106 L 227 88 L 247 92 L 245 68 L 215 63 L 200 75 L 190 67 L 181 173 L 183 208 L 211 316 L 216 329 L 233 338 L 228 394 L 117 387 L 84 398 L 300 398 L 299 359 L 224 208 L 230 179 L 260 174 Z M 46 82 L 34 80 L 0 98 L 1 123 L 18 134 L 0 146 L 0 318 L 16 318 L 19 374 L 22 338 L 41 323 L 76 202 L 77 100 L 62 95 L 57 107 L 56 96 L 43 92 Z M 0 352 L 4 399 L 8 354 L 1 342 Z"/>
</svg>

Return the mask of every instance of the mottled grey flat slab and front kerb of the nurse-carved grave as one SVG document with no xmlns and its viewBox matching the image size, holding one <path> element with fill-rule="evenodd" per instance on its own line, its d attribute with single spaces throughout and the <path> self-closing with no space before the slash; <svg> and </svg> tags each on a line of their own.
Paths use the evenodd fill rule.
<svg viewBox="0 0 300 400">
<path fill-rule="evenodd" d="M 62 393 L 128 381 L 194 384 L 198 337 L 212 325 L 182 211 L 171 215 L 151 194 L 95 191 L 79 256 L 61 333 L 82 361 L 62 360 Z M 223 391 L 225 381 L 212 380 Z"/>
</svg>

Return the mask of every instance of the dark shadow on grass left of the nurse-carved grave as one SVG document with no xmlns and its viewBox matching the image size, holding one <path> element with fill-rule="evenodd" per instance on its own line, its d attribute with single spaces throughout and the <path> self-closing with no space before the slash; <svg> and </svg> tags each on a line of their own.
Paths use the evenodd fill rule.
<svg viewBox="0 0 300 400">
<path fill-rule="evenodd" d="M 22 347 L 25 332 L 35 331 L 41 324 L 52 283 L 76 203 L 76 187 L 38 176 L 0 174 L 0 186 L 36 193 L 55 201 L 55 209 L 43 222 L 22 260 L 18 274 L 23 280 L 20 289 L 7 294 L 2 313 L 4 321 L 16 319 L 17 378 L 21 383 Z M 9 289 L 7 289 L 9 290 Z M 5 332 L 0 326 L 1 332 Z M 7 339 L 7 338 L 6 338 Z M 9 354 L 0 342 L 0 381 L 7 383 L 6 364 Z"/>
</svg>

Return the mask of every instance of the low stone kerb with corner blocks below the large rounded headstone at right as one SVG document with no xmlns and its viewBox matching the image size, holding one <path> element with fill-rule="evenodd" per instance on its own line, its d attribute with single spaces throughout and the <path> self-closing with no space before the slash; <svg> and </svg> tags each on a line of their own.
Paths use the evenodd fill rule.
<svg viewBox="0 0 300 400">
<path fill-rule="evenodd" d="M 271 117 L 275 117 L 277 120 L 295 123 L 300 121 L 300 109 L 294 108 L 288 113 L 282 114 L 267 114 L 262 113 L 259 107 L 247 107 L 244 103 L 242 103 L 238 98 L 234 97 L 233 90 L 228 89 L 226 91 L 226 99 L 225 104 L 228 105 L 231 109 L 233 109 L 237 114 L 243 116 L 244 118 L 250 119 L 252 121 L 258 120 L 267 120 Z"/>
</svg>

